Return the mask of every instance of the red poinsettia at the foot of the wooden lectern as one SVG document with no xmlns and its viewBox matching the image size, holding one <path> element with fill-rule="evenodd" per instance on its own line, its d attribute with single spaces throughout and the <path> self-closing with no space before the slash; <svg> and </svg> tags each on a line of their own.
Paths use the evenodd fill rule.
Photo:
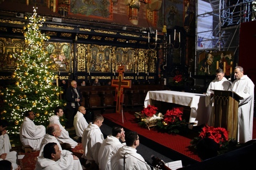
<svg viewBox="0 0 256 170">
<path fill-rule="evenodd" d="M 199 134 L 200 138 L 208 137 L 213 139 L 216 143 L 219 143 L 220 146 L 224 142 L 228 141 L 228 134 L 225 128 L 221 127 L 213 127 L 213 126 L 205 126 L 202 128 L 202 132 Z"/>
</svg>

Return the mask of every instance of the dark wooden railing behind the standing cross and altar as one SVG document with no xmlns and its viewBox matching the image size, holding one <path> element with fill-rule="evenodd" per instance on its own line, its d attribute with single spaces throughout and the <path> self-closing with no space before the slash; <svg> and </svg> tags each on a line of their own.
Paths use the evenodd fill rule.
<svg viewBox="0 0 256 170">
<path fill-rule="evenodd" d="M 111 109 L 116 107 L 115 102 L 115 87 L 110 85 L 101 86 L 79 86 L 83 95 L 82 106 L 90 110 Z M 124 88 L 124 106 L 134 107 L 143 106 L 144 99 L 148 91 L 166 90 L 165 85 L 131 85 L 131 88 Z"/>
</svg>

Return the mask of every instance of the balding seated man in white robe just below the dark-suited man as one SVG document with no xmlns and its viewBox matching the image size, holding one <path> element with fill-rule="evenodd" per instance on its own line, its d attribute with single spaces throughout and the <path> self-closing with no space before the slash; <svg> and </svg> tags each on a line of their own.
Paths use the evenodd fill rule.
<svg viewBox="0 0 256 170">
<path fill-rule="evenodd" d="M 74 117 L 75 134 L 78 137 L 83 136 L 85 128 L 87 128 L 87 126 L 89 125 L 84 117 L 85 113 L 85 107 L 79 106 L 78 111 Z"/>
</svg>

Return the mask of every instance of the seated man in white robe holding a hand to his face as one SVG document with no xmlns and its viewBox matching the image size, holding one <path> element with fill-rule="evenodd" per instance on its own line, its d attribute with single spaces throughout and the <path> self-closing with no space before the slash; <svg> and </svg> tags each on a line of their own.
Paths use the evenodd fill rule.
<svg viewBox="0 0 256 170">
<path fill-rule="evenodd" d="M 120 139 L 122 143 L 120 142 Z M 126 145 L 125 131 L 120 126 L 112 128 L 112 134 L 102 142 L 98 151 L 98 167 L 99 170 L 111 170 L 110 159 L 117 150 Z"/>
</svg>

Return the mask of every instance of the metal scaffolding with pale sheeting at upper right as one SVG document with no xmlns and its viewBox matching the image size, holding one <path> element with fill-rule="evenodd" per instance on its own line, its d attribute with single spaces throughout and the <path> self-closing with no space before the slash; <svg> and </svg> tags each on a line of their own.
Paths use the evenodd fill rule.
<svg viewBox="0 0 256 170">
<path fill-rule="evenodd" d="M 203 3 L 209 4 L 212 11 L 196 11 L 196 28 L 200 26 L 200 21 L 207 21 L 206 17 L 212 18 L 212 28 L 204 31 L 196 29 L 195 68 L 203 51 L 232 51 L 234 57 L 238 57 L 240 25 L 254 20 L 256 13 L 253 8 L 256 0 L 203 0 Z"/>
</svg>

